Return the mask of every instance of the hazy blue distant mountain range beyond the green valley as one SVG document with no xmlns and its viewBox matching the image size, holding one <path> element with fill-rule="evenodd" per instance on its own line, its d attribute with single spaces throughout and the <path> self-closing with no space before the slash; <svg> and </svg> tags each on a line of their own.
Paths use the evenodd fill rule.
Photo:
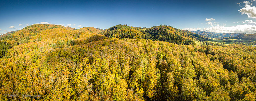
<svg viewBox="0 0 256 101">
<path fill-rule="evenodd" d="M 230 37 L 230 36 L 237 36 L 242 33 L 215 33 L 215 32 L 206 32 L 206 31 L 191 31 L 199 35 L 203 35 L 205 37 L 217 38 L 217 37 Z"/>
</svg>

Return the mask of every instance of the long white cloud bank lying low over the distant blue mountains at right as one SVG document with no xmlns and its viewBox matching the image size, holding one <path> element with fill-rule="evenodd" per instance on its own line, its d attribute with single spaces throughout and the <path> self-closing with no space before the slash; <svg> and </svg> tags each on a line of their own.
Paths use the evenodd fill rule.
<svg viewBox="0 0 256 101">
<path fill-rule="evenodd" d="M 230 27 L 217 25 L 204 28 L 204 31 L 216 33 L 256 33 L 256 25 L 243 24 Z"/>
</svg>

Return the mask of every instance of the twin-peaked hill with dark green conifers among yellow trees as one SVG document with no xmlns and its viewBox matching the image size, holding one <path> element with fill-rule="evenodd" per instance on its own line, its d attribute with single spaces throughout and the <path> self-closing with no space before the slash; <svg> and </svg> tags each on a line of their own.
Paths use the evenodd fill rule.
<svg viewBox="0 0 256 101">
<path fill-rule="evenodd" d="M 207 38 L 193 32 L 179 30 L 171 26 L 160 25 L 151 28 L 132 27 L 127 25 L 116 25 L 102 31 L 100 34 L 110 38 L 151 39 L 165 41 L 175 44 L 193 44 L 195 40 L 206 40 Z"/>
</svg>

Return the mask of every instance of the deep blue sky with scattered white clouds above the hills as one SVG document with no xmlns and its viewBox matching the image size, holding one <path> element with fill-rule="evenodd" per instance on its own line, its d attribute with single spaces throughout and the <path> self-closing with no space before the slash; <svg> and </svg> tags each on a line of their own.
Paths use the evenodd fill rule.
<svg viewBox="0 0 256 101">
<path fill-rule="evenodd" d="M 256 33 L 255 0 L 6 1 L 0 3 L 0 34 L 45 23 L 107 29 L 171 25 L 184 30 Z"/>
</svg>

